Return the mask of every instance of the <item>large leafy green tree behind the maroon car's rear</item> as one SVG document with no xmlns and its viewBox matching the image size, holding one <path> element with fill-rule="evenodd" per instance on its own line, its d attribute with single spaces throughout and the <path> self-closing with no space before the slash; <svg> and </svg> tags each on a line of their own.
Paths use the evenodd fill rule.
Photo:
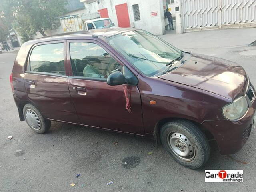
<svg viewBox="0 0 256 192">
<path fill-rule="evenodd" d="M 36 32 L 46 36 L 46 30 L 60 26 L 59 17 L 66 13 L 66 0 L 0 0 L 0 11 L 11 22 L 23 41 Z"/>
</svg>

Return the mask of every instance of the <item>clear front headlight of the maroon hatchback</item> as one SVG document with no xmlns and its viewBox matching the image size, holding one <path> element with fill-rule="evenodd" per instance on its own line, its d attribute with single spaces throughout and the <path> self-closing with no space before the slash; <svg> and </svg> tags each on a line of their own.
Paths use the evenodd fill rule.
<svg viewBox="0 0 256 192">
<path fill-rule="evenodd" d="M 248 110 L 248 104 L 245 97 L 240 97 L 234 102 L 222 108 L 223 115 L 229 120 L 236 120 L 244 116 Z"/>
</svg>

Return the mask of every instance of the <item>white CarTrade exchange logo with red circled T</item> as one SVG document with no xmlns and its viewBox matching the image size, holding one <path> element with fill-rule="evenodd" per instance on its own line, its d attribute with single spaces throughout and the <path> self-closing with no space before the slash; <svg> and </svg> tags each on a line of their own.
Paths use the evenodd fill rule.
<svg viewBox="0 0 256 192">
<path fill-rule="evenodd" d="M 244 182 L 244 170 L 205 170 L 204 182 Z"/>
</svg>

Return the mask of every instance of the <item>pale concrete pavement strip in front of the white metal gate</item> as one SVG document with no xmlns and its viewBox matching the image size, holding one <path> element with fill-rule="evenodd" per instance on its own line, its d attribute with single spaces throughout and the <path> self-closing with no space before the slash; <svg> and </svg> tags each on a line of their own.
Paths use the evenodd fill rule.
<svg viewBox="0 0 256 192">
<path fill-rule="evenodd" d="M 180 49 L 228 48 L 247 46 L 256 40 L 256 28 L 205 30 L 174 34 L 167 31 L 160 38 Z"/>
</svg>

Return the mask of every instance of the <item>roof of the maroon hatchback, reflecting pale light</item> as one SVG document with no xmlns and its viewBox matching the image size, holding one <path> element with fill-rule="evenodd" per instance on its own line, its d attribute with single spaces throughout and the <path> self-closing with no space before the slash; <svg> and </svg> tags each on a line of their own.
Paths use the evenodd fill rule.
<svg viewBox="0 0 256 192">
<path fill-rule="evenodd" d="M 40 42 L 47 41 L 47 40 L 65 40 L 69 38 L 82 38 L 88 36 L 102 36 L 104 38 L 108 38 L 110 36 L 114 36 L 123 32 L 133 31 L 136 30 L 135 28 L 105 28 L 105 29 L 93 29 L 93 30 L 84 30 L 84 31 L 76 31 L 76 32 L 69 32 L 69 33 L 62 33 L 56 34 L 52 36 L 46 36 L 34 40 L 30 40 L 29 42 L 38 41 Z"/>
</svg>

